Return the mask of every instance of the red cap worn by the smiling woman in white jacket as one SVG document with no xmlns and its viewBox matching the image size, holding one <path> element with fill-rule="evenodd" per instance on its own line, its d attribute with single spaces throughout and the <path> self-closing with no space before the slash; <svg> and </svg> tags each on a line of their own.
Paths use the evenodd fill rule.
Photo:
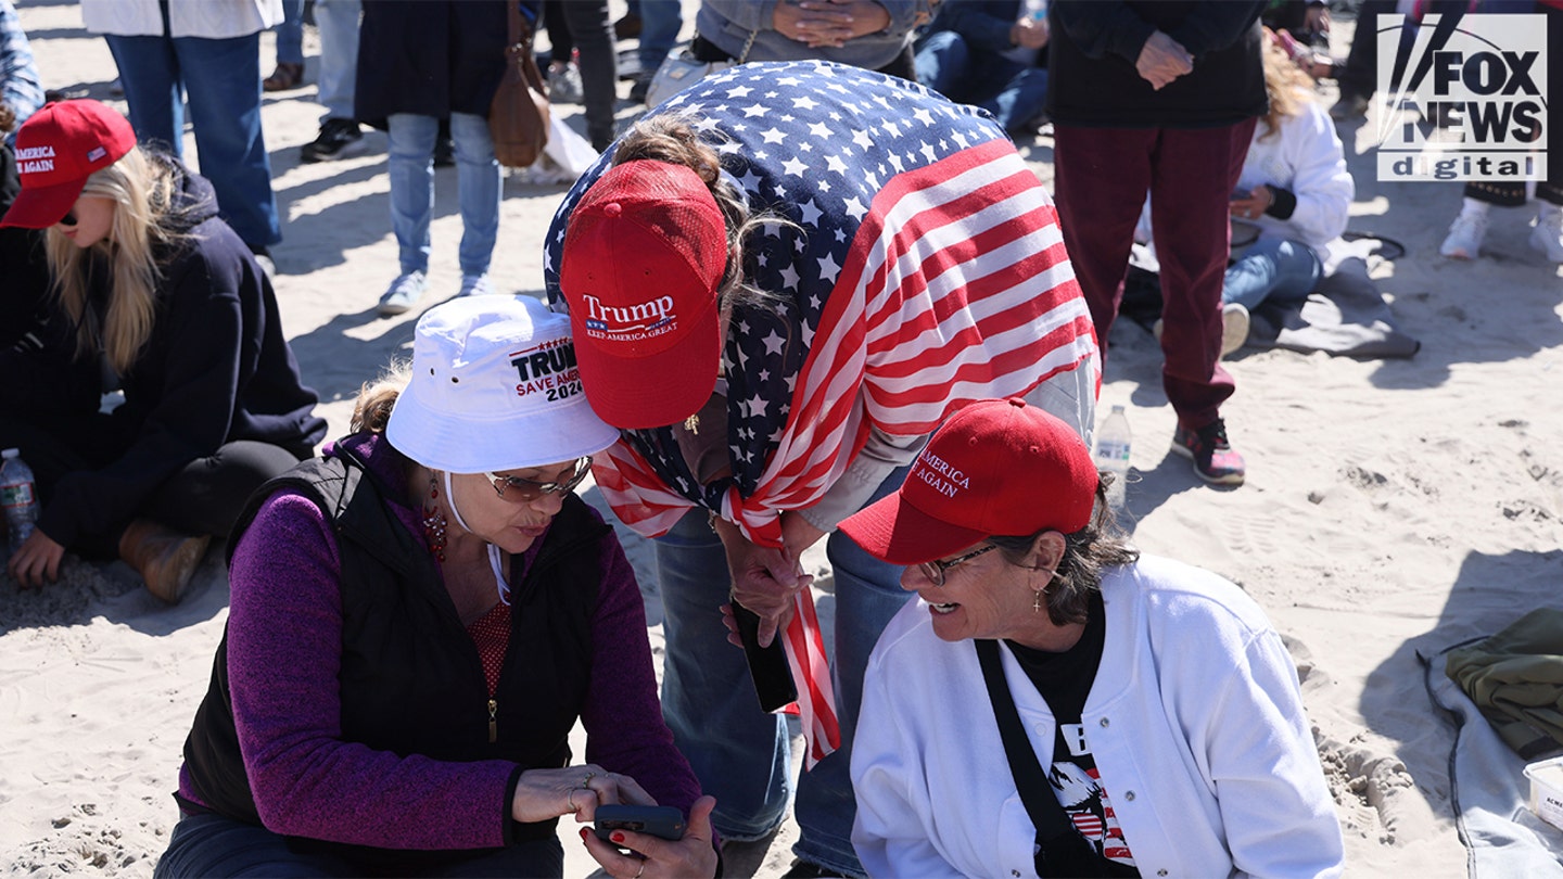
<svg viewBox="0 0 1563 879">
<path fill-rule="evenodd" d="M 841 530 L 891 565 L 921 565 L 994 535 L 1074 533 L 1091 521 L 1085 441 L 1022 399 L 978 400 L 939 427 L 907 482 Z"/>
</svg>

